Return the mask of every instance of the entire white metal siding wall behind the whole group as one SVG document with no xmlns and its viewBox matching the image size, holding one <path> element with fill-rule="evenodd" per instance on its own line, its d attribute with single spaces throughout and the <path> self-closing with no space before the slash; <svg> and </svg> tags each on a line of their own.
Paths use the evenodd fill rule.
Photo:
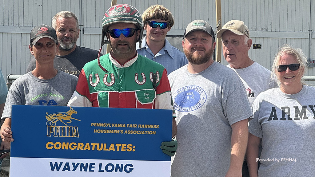
<svg viewBox="0 0 315 177">
<path fill-rule="evenodd" d="M 183 35 L 187 24 L 195 19 L 206 20 L 213 28 L 216 26 L 214 0 L 117 0 L 117 3 L 131 4 L 140 13 L 151 5 L 166 6 L 175 17 L 175 25 L 168 32 L 170 35 Z M 40 24 L 51 25 L 51 18 L 61 10 L 72 11 L 79 19 L 81 32 L 77 45 L 98 50 L 101 21 L 110 4 L 111 0 L 1 0 L 0 56 L 3 75 L 25 73 L 31 58 L 28 49 L 31 28 Z M 310 42 L 308 38 L 308 30 L 314 26 L 314 1 L 221 0 L 221 12 L 222 25 L 232 19 L 245 22 L 253 43 L 262 44 L 262 49 L 249 50 L 250 58 L 266 68 L 271 69 L 274 54 L 284 43 L 300 47 L 307 57 L 314 59 L 314 30 Z M 181 43 L 180 40 L 174 41 Z M 227 64 L 223 55 L 221 60 L 222 64 Z M 310 68 L 308 75 L 315 75 L 315 71 Z"/>
</svg>

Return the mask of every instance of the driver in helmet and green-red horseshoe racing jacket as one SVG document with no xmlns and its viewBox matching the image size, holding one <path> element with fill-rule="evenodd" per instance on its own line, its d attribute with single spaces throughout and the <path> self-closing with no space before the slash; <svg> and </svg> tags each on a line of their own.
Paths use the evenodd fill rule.
<svg viewBox="0 0 315 177">
<path fill-rule="evenodd" d="M 104 44 L 110 44 L 112 50 L 83 67 L 68 106 L 173 110 L 165 68 L 135 50 L 137 41 L 141 46 L 142 33 L 142 18 L 137 9 L 128 4 L 109 8 L 102 20 L 100 51 Z M 172 121 L 172 137 L 175 137 L 174 110 Z M 165 154 L 175 154 L 175 140 L 161 145 Z"/>
</svg>

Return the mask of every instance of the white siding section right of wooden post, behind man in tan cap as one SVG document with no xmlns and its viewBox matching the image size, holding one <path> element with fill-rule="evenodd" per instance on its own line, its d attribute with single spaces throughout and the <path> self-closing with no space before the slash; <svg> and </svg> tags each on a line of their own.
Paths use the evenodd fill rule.
<svg viewBox="0 0 315 177">
<path fill-rule="evenodd" d="M 229 3 L 226 2 L 225 7 L 222 8 L 223 24 L 231 19 L 244 21 L 249 28 L 253 43 L 262 45 L 262 49 L 249 50 L 252 60 L 271 69 L 274 55 L 279 46 L 285 43 L 301 48 L 306 56 L 309 55 L 311 0 L 229 0 Z M 238 4 L 241 4 L 241 7 Z M 227 13 L 223 14 L 227 9 L 230 9 L 228 16 Z M 227 64 L 223 56 L 221 60 L 223 64 Z"/>
</svg>

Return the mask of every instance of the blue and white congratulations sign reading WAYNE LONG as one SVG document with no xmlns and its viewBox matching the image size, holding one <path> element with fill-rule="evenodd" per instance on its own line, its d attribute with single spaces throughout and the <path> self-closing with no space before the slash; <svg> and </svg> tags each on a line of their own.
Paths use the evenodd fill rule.
<svg viewBox="0 0 315 177">
<path fill-rule="evenodd" d="M 170 176 L 172 110 L 12 106 L 10 176 Z"/>
</svg>

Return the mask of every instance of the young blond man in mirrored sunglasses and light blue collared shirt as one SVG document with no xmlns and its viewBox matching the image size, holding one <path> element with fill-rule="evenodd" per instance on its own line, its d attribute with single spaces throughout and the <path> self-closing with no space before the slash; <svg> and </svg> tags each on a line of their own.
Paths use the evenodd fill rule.
<svg viewBox="0 0 315 177">
<path fill-rule="evenodd" d="M 185 54 L 167 41 L 166 34 L 174 25 L 174 18 L 169 9 L 162 5 L 152 5 L 142 14 L 146 37 L 137 52 L 166 68 L 171 73 L 188 63 Z"/>
</svg>

